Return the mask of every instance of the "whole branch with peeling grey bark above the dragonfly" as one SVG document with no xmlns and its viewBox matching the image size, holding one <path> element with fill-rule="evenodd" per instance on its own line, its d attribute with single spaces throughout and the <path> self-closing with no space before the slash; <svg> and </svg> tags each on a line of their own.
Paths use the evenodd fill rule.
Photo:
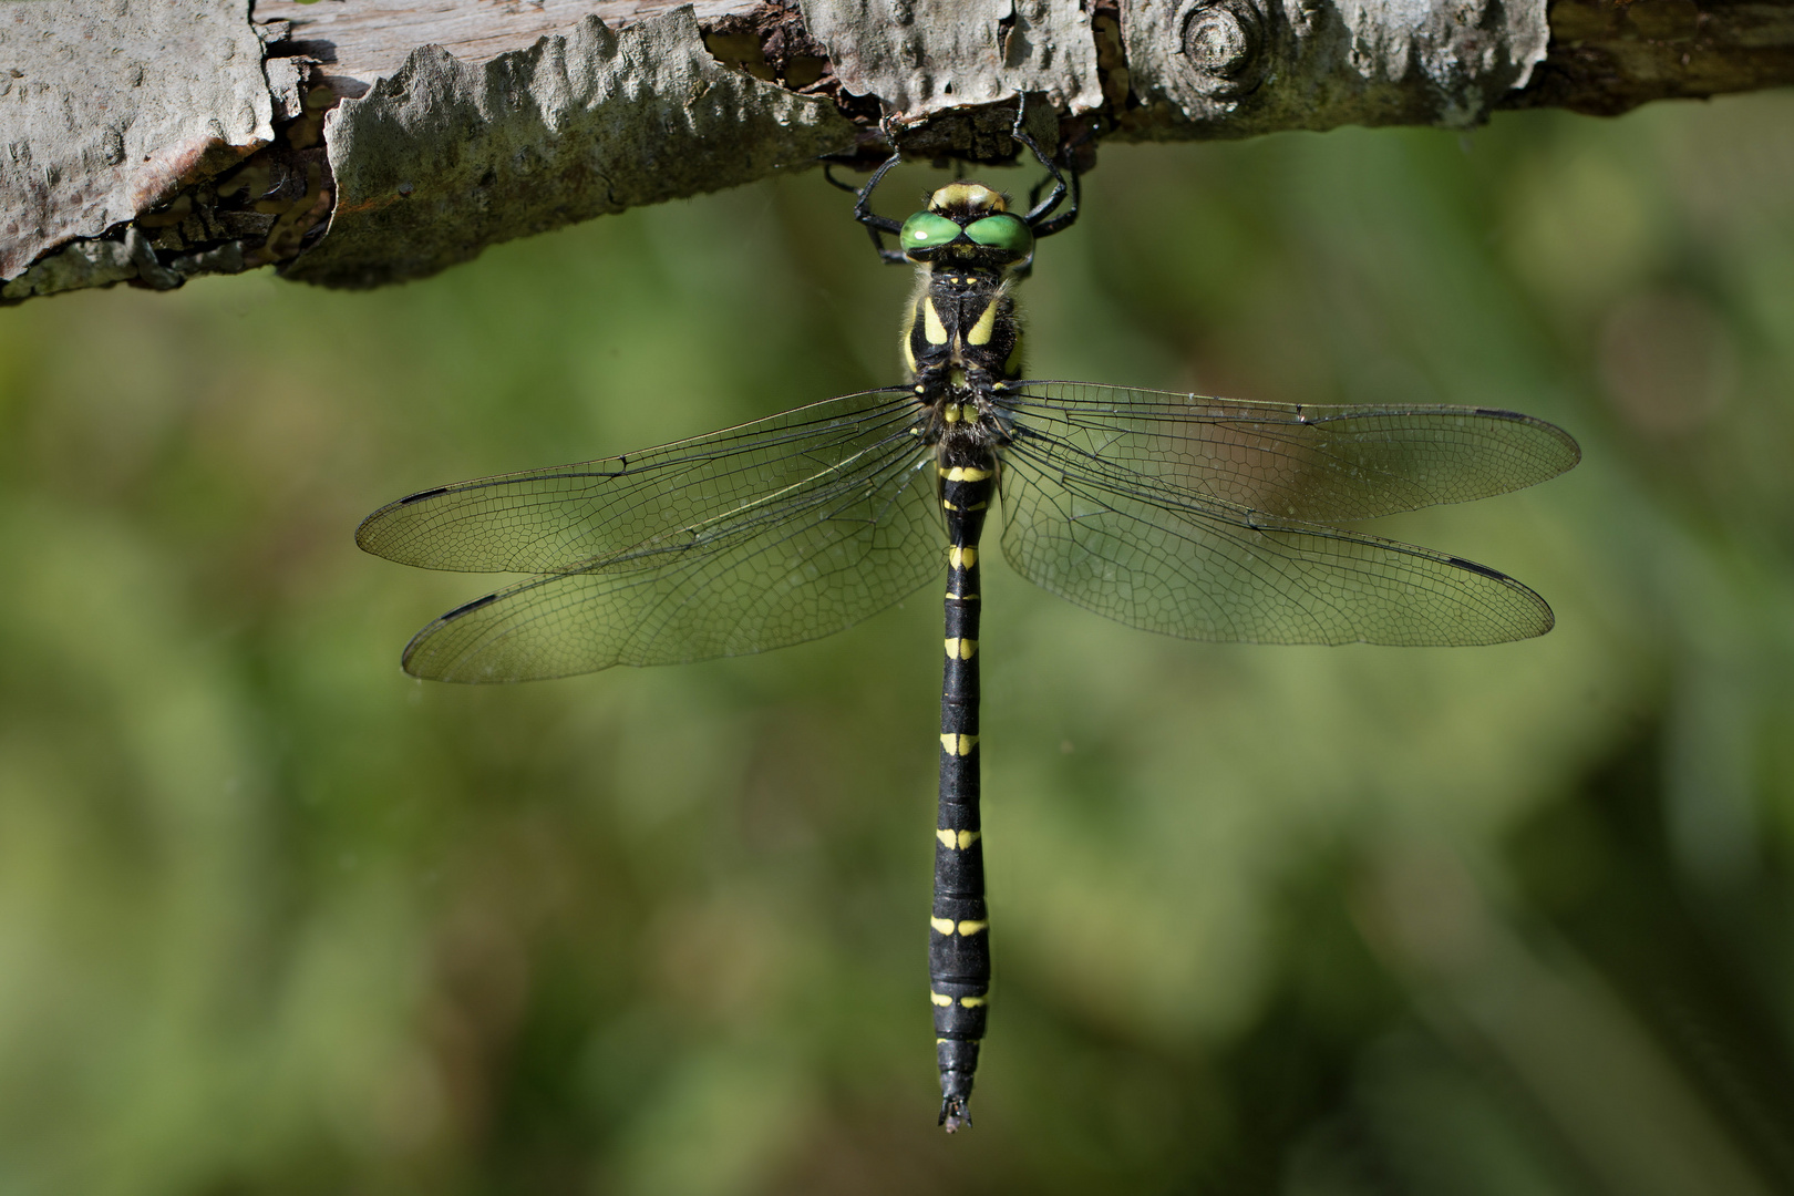
<svg viewBox="0 0 1794 1196">
<path fill-rule="evenodd" d="M 1094 143 L 1794 82 L 1794 0 L 253 4 L 0 0 L 0 299 L 366 287 L 818 154 L 1006 160 L 1019 93 Z"/>
</svg>

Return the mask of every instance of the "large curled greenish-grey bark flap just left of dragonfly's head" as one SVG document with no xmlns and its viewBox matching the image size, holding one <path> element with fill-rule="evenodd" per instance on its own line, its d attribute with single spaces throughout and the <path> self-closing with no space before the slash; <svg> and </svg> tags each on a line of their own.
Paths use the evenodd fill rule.
<svg viewBox="0 0 1794 1196">
<path fill-rule="evenodd" d="M 587 16 L 479 66 L 413 50 L 325 124 L 335 215 L 291 278 L 379 285 L 605 212 L 748 183 L 854 127 L 710 57 L 689 9 L 621 34 Z"/>
</svg>

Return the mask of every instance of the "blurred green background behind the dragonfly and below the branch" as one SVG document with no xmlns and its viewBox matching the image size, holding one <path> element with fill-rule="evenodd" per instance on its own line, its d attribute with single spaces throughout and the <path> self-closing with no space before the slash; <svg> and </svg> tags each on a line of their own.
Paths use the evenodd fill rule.
<svg viewBox="0 0 1794 1196">
<path fill-rule="evenodd" d="M 456 689 L 398 651 L 490 585 L 352 540 L 888 384 L 908 285 L 807 172 L 371 294 L 0 312 L 0 1192 L 1794 1191 L 1794 95 L 1103 149 L 1033 377 L 1586 459 L 1378 527 L 1541 590 L 1528 644 L 1182 644 L 987 572 L 956 1139 L 933 592 Z"/>
</svg>

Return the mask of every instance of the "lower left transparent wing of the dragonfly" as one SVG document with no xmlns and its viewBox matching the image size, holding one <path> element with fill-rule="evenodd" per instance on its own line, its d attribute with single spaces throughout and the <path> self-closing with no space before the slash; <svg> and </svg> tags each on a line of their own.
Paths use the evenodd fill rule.
<svg viewBox="0 0 1794 1196">
<path fill-rule="evenodd" d="M 420 631 L 405 671 L 524 681 L 832 635 L 940 574 L 933 461 L 904 434 L 685 540 L 499 590 Z"/>
</svg>

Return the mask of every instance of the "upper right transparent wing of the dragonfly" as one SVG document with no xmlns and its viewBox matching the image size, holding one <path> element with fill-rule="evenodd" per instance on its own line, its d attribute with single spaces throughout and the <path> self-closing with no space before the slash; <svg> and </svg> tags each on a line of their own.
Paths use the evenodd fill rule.
<svg viewBox="0 0 1794 1196">
<path fill-rule="evenodd" d="M 1017 382 L 1001 402 L 1067 459 L 1322 524 L 1487 498 L 1581 459 L 1563 429 L 1485 407 L 1252 403 L 1089 382 Z"/>
</svg>

